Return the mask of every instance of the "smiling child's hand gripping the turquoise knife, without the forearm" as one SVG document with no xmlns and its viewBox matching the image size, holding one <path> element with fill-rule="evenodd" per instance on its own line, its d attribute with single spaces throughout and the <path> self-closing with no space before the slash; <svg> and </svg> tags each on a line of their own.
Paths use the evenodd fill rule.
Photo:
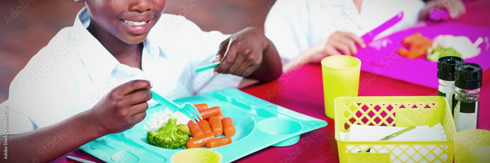
<svg viewBox="0 0 490 163">
<path fill-rule="evenodd" d="M 231 35 L 221 42 L 217 58 L 213 61 L 221 61 L 214 72 L 215 74 L 233 74 L 237 76 L 248 76 L 262 64 L 262 57 L 268 39 L 264 33 L 257 28 L 248 27 Z"/>
</svg>

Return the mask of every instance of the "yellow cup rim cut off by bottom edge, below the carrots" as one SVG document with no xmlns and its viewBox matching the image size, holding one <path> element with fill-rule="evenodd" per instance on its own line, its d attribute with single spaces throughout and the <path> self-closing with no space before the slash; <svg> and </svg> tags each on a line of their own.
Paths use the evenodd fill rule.
<svg viewBox="0 0 490 163">
<path fill-rule="evenodd" d="M 191 148 L 175 153 L 171 163 L 221 163 L 222 159 L 221 154 L 216 151 Z"/>
</svg>

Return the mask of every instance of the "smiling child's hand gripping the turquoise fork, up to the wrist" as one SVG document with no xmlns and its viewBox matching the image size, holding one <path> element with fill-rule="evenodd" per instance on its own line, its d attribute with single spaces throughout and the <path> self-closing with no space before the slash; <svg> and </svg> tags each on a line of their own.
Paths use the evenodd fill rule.
<svg viewBox="0 0 490 163">
<path fill-rule="evenodd" d="M 151 87 L 150 81 L 133 80 L 114 88 L 86 112 L 88 123 L 96 127 L 100 135 L 132 128 L 146 116 Z"/>
</svg>

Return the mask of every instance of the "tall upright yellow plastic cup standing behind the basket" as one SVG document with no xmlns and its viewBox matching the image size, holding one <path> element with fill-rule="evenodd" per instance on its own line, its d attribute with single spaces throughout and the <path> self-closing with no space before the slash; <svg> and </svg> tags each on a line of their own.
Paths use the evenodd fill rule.
<svg viewBox="0 0 490 163">
<path fill-rule="evenodd" d="M 334 99 L 340 96 L 357 96 L 361 60 L 348 55 L 333 55 L 321 60 L 325 115 L 333 119 Z"/>
</svg>

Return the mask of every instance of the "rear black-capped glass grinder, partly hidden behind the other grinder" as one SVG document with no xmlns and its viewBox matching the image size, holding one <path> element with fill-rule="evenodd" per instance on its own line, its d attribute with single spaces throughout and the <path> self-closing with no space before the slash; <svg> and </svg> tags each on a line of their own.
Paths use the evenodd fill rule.
<svg viewBox="0 0 490 163">
<path fill-rule="evenodd" d="M 454 115 L 454 70 L 457 64 L 465 63 L 465 60 L 460 57 L 446 56 L 437 60 L 437 78 L 439 78 L 439 87 L 437 95 L 446 97 L 449 101 L 451 113 Z"/>
</svg>

